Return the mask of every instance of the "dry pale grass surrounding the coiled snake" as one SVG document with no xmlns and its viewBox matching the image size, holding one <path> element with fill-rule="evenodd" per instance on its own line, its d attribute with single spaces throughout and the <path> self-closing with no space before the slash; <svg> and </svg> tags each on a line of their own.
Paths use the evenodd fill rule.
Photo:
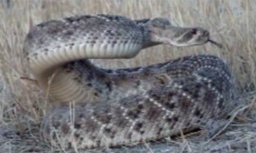
<svg viewBox="0 0 256 153">
<path fill-rule="evenodd" d="M 157 46 L 131 60 L 95 60 L 104 67 L 132 67 L 159 63 L 188 54 L 215 54 L 230 64 L 240 90 L 240 106 L 250 104 L 236 122 L 216 139 L 204 143 L 200 136 L 167 143 L 107 149 L 106 152 L 256 152 L 256 2 L 237 1 L 0 1 L 0 152 L 58 152 L 39 137 L 40 120 L 49 99 L 20 77 L 30 77 L 22 58 L 23 40 L 33 24 L 74 14 L 109 13 L 133 19 L 168 17 L 173 24 L 207 28 L 210 44 L 188 48 Z M 93 150 L 92 152 L 102 152 Z"/>
</svg>

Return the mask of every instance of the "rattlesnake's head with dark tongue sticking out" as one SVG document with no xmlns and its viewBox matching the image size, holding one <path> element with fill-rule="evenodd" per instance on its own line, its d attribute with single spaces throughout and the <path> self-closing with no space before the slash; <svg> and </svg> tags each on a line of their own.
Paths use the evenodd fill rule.
<svg viewBox="0 0 256 153">
<path fill-rule="evenodd" d="M 164 43 L 175 46 L 202 45 L 211 42 L 221 46 L 210 39 L 209 31 L 201 27 L 175 27 L 168 19 L 156 18 L 148 23 L 151 42 Z"/>
</svg>

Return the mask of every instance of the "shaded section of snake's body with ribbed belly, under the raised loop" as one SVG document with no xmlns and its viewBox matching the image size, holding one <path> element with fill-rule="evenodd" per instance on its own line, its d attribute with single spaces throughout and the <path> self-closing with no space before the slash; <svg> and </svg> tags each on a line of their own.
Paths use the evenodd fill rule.
<svg viewBox="0 0 256 153">
<path fill-rule="evenodd" d="M 37 80 L 62 105 L 108 101 L 114 86 L 111 77 L 88 60 L 52 68 Z"/>
</svg>

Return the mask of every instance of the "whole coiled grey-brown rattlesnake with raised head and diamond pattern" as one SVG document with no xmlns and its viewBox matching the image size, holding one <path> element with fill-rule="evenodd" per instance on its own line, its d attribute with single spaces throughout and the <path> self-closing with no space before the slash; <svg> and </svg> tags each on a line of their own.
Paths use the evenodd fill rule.
<svg viewBox="0 0 256 153">
<path fill-rule="evenodd" d="M 31 28 L 24 43 L 30 71 L 62 104 L 45 116 L 45 140 L 63 148 L 111 147 L 161 139 L 222 119 L 233 106 L 232 75 L 216 56 L 119 70 L 87 60 L 131 58 L 159 44 L 206 42 L 215 43 L 207 30 L 175 27 L 163 18 L 99 14 Z M 66 104 L 72 102 L 76 106 L 70 110 Z"/>
</svg>

